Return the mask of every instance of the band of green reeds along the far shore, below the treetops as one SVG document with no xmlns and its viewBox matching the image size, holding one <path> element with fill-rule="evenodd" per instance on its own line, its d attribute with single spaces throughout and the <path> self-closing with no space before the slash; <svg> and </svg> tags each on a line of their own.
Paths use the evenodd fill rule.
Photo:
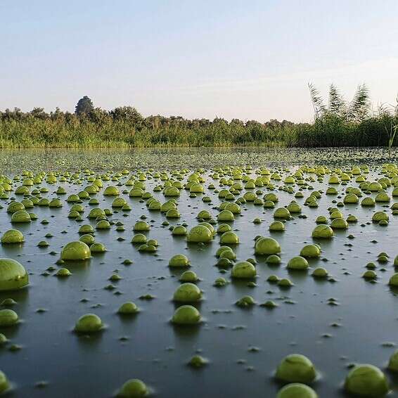
<svg viewBox="0 0 398 398">
<path fill-rule="evenodd" d="M 345 122 L 338 117 L 312 124 L 209 122 L 207 126 L 169 124 L 158 127 L 120 121 L 98 124 L 88 118 L 0 121 L 0 148 L 110 148 L 187 146 L 387 146 L 394 117 L 368 117 Z M 397 140 L 394 140 L 394 145 Z"/>
</svg>

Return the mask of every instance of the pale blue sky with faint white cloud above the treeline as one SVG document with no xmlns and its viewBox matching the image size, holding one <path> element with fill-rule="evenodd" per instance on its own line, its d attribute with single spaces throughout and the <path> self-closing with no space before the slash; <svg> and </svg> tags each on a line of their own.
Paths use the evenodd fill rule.
<svg viewBox="0 0 398 398">
<path fill-rule="evenodd" d="M 308 122 L 307 84 L 398 93 L 397 0 L 0 0 L 0 110 Z"/>
</svg>

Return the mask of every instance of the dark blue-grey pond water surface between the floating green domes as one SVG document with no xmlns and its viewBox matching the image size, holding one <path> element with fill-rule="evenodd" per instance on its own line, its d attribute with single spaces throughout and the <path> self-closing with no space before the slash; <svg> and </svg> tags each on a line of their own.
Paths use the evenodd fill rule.
<svg viewBox="0 0 398 398">
<path fill-rule="evenodd" d="M 347 155 L 351 153 L 351 155 Z M 371 153 L 374 157 L 371 158 Z M 368 180 L 375 181 L 382 175 L 380 162 L 385 161 L 385 150 L 179 150 L 143 152 L 96 152 L 56 151 L 52 152 L 4 152 L 1 154 L 2 172 L 10 177 L 21 169 L 131 169 L 153 167 L 153 169 L 207 167 L 203 172 L 205 187 L 212 181 L 210 168 L 218 165 L 253 166 L 251 176 L 255 177 L 255 167 L 294 167 L 298 164 L 354 165 L 367 163 L 371 167 Z M 222 160 L 224 158 L 224 160 Z M 235 161 L 233 161 L 235 160 Z M 178 164 L 180 163 L 180 166 Z M 297 169 L 297 167 L 295 168 Z M 190 173 L 186 174 L 188 176 Z M 282 176 L 288 172 L 281 172 Z M 110 174 L 112 175 L 112 174 Z M 45 180 L 44 180 L 45 181 Z M 124 176 L 122 184 L 127 181 Z M 186 179 L 184 179 L 186 181 Z M 312 182 L 315 189 L 326 191 L 328 176 L 323 183 Z M 162 181 L 148 179 L 146 191 L 152 193 L 153 187 Z M 104 186 L 117 184 L 117 181 L 104 181 Z M 283 185 L 275 181 L 276 187 Z M 15 182 L 14 187 L 20 182 Z M 56 197 L 54 191 L 64 186 L 68 192 L 77 193 L 86 186 L 69 182 L 46 184 L 49 193 L 43 197 Z M 354 179 L 347 186 L 358 186 Z M 121 191 L 131 187 L 121 186 Z M 344 193 L 345 186 L 337 186 Z M 267 188 L 259 188 L 263 194 Z M 393 188 L 387 188 L 391 194 Z M 298 187 L 295 186 L 295 191 Z M 256 191 L 256 190 L 255 190 Z M 293 194 L 274 191 L 279 198 L 276 207 L 285 206 L 294 199 Z M 311 191 L 304 189 L 304 198 Z M 110 208 L 113 198 L 103 196 L 103 190 L 96 195 L 100 207 Z M 241 195 L 245 193 L 242 191 Z M 60 196 L 65 202 L 68 195 Z M 178 199 L 181 219 L 169 220 L 170 225 L 188 223 L 188 229 L 195 224 L 196 214 L 200 210 L 209 210 L 216 218 L 215 206 L 220 202 L 217 193 L 205 189 L 205 195 L 212 203 L 202 202 L 203 195 L 189 198 L 188 191 L 181 191 Z M 12 196 L 12 193 L 10 197 Z M 264 258 L 257 261 L 257 287 L 251 288 L 247 282 L 231 281 L 230 271 L 220 274 L 215 267 L 214 254 L 219 248 L 219 236 L 204 246 L 187 245 L 185 238 L 173 237 L 167 226 L 162 226 L 165 215 L 149 212 L 145 203 L 139 199 L 121 194 L 131 205 L 131 212 L 114 212 L 110 216 L 113 222 L 122 221 L 125 231 L 115 231 L 115 226 L 107 231 L 96 231 L 96 241 L 107 248 L 103 255 L 94 255 L 86 264 L 67 264 L 72 276 L 56 278 L 41 274 L 55 265 L 63 245 L 79 239 L 77 232 L 81 224 L 95 221 L 86 219 L 89 206 L 83 205 L 84 221 L 68 219 L 72 204 L 64 203 L 60 209 L 34 207 L 39 218 L 30 224 L 18 224 L 23 231 L 23 245 L 0 246 L 0 257 L 17 259 L 30 272 L 30 286 L 18 292 L 1 292 L 0 302 L 12 297 L 18 302 L 13 309 L 23 321 L 18 326 L 0 329 L 11 343 L 21 345 L 18 352 L 0 347 L 0 370 L 4 371 L 13 383 L 13 390 L 6 397 L 111 397 L 124 381 L 140 378 L 149 385 L 158 397 L 274 397 L 280 385 L 274 382 L 273 372 L 285 355 L 304 354 L 311 359 L 319 371 L 319 380 L 312 386 L 322 398 L 345 397 L 342 382 L 347 375 L 347 366 L 352 363 L 373 364 L 385 370 L 387 361 L 398 342 L 398 297 L 387 285 L 394 274 L 392 261 L 398 255 L 398 217 L 393 216 L 389 207 L 377 204 L 375 208 L 357 205 L 345 205 L 342 213 L 355 214 L 359 222 L 350 224 L 349 229 L 335 234 L 332 240 L 322 241 L 321 259 L 311 260 L 310 266 L 325 267 L 336 279 L 317 281 L 312 278 L 311 270 L 304 273 L 291 273 L 285 268 L 288 260 L 300 253 L 306 243 L 312 243 L 312 229 L 320 214 L 328 215 L 328 207 L 335 205 L 332 196 L 322 195 L 318 208 L 304 206 L 304 198 L 297 199 L 302 205 L 302 213 L 307 219 L 294 217 L 286 222 L 285 232 L 270 233 L 269 224 L 274 221 L 272 209 L 264 209 L 250 203 L 241 205 L 242 214 L 231 225 L 240 238 L 240 244 L 234 248 L 238 259 L 254 256 L 254 238 L 258 235 L 271 236 L 281 244 L 282 264 L 269 267 Z M 162 192 L 153 192 L 153 196 L 164 203 L 167 198 Z M 364 195 L 365 196 L 365 195 Z M 375 196 L 372 194 L 371 196 Z M 21 200 L 20 196 L 17 200 Z M 359 198 L 361 200 L 361 198 Z M 393 202 L 393 201 L 392 201 Z M 6 212 L 9 200 L 1 200 L 4 207 L 0 210 L 0 232 L 15 228 L 11 216 Z M 392 203 L 390 203 L 391 205 Z M 387 204 L 388 205 L 388 204 Z M 385 210 L 390 214 L 390 224 L 378 226 L 371 223 L 375 210 Z M 30 210 L 31 211 L 31 210 Z M 127 217 L 124 217 L 127 214 Z M 151 229 L 149 238 L 158 239 L 160 246 L 156 255 L 138 252 L 130 240 L 132 226 L 142 214 Z M 256 217 L 262 224 L 253 224 Z M 42 219 L 49 224 L 40 224 Z M 151 221 L 150 221 L 151 220 Z M 366 224 L 369 223 L 369 224 Z M 365 226 L 361 226 L 365 224 Z M 61 233 L 67 231 L 68 233 Z M 53 238 L 45 238 L 46 233 Z M 355 236 L 350 240 L 349 234 Z M 126 240 L 118 241 L 118 237 Z M 38 248 L 40 240 L 47 240 L 48 248 Z M 377 240 L 377 243 L 371 243 Z M 349 244 L 349 245 L 348 245 Z M 56 251 L 57 255 L 50 255 Z M 387 252 L 390 262 L 378 264 L 379 252 Z M 191 260 L 191 270 L 201 281 L 198 286 L 203 290 L 203 300 L 196 307 L 200 309 L 203 323 L 193 328 L 177 328 L 169 319 L 176 305 L 172 302 L 174 290 L 179 286 L 179 275 L 184 271 L 171 271 L 167 267 L 169 258 L 183 253 Z M 133 264 L 125 266 L 124 259 L 132 259 Z M 327 259 L 327 261 L 326 261 Z M 377 283 L 368 283 L 361 278 L 366 271 L 365 265 L 375 262 L 378 274 Z M 113 291 L 105 290 L 110 283 L 108 278 L 119 270 L 122 279 L 115 283 Z M 289 290 L 281 290 L 277 285 L 268 283 L 267 277 L 276 274 L 290 278 L 295 285 Z M 224 276 L 231 283 L 224 288 L 215 288 L 214 280 Z M 117 295 L 115 292 L 122 294 Z M 141 295 L 151 294 L 153 300 L 140 300 Z M 274 300 L 278 307 L 269 310 L 255 305 L 251 309 L 242 309 L 234 304 L 243 295 L 252 295 L 257 304 Z M 328 305 L 328 299 L 335 298 L 338 306 Z M 88 301 L 82 302 L 82 299 Z M 133 301 L 141 309 L 131 319 L 116 314 L 123 302 Z M 37 312 L 46 309 L 46 312 Z M 101 316 L 107 328 L 90 338 L 79 337 L 72 333 L 75 322 L 86 313 Z M 338 328 L 332 323 L 339 323 Z M 128 340 L 120 340 L 127 337 Z M 252 349 L 257 347 L 257 349 Z M 189 368 L 186 363 L 193 354 L 209 359 L 210 364 L 200 370 Z M 386 372 L 394 392 L 398 392 L 398 379 Z M 44 388 L 35 387 L 41 380 L 49 384 Z"/>
</svg>

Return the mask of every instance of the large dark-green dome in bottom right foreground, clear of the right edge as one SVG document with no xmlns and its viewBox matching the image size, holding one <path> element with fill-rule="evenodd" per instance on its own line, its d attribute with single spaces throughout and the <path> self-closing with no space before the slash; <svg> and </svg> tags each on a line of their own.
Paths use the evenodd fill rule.
<svg viewBox="0 0 398 398">
<path fill-rule="evenodd" d="M 373 365 L 357 365 L 349 371 L 344 384 L 345 390 L 360 397 L 384 397 L 388 390 L 385 374 Z"/>
</svg>

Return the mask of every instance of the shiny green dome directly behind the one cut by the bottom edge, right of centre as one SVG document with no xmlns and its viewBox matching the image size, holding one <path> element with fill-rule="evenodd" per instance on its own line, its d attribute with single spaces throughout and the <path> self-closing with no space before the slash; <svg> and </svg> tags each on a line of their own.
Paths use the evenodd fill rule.
<svg viewBox="0 0 398 398">
<path fill-rule="evenodd" d="M 288 383 L 312 383 L 316 371 L 312 361 L 302 354 L 290 354 L 283 358 L 276 369 L 276 378 Z"/>
</svg>

